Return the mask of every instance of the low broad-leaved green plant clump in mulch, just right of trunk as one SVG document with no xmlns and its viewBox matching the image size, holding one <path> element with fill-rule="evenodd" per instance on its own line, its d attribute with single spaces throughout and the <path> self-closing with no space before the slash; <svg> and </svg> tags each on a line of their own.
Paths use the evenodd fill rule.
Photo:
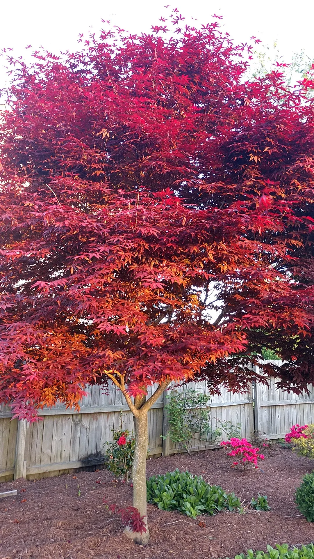
<svg viewBox="0 0 314 559">
<path fill-rule="evenodd" d="M 161 510 L 178 510 L 188 517 L 215 514 L 221 510 L 241 510 L 240 499 L 219 485 L 208 485 L 202 477 L 189 472 L 167 472 L 147 482 L 147 500 Z"/>
</svg>

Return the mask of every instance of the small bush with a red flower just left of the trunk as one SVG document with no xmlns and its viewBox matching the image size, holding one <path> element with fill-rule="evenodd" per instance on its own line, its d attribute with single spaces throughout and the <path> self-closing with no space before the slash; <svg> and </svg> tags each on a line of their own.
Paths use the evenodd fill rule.
<svg viewBox="0 0 314 559">
<path fill-rule="evenodd" d="M 112 429 L 112 433 L 112 443 L 105 443 L 107 468 L 113 475 L 128 482 L 132 474 L 135 438 L 128 430 Z"/>
</svg>

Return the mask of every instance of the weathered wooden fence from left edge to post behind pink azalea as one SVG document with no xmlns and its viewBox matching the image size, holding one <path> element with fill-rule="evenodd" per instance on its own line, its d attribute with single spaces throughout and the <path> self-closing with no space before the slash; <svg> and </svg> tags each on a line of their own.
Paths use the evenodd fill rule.
<svg viewBox="0 0 314 559">
<path fill-rule="evenodd" d="M 203 382 L 189 388 L 206 392 Z M 165 394 L 149 411 L 149 456 L 182 452 L 169 441 Z M 93 386 L 84 397 L 79 413 L 63 405 L 45 408 L 34 423 L 12 419 L 8 406 L 0 406 L 0 481 L 14 477 L 34 479 L 68 473 L 80 467 L 104 463 L 104 445 L 112 440 L 112 429 L 134 429 L 133 416 L 120 390 L 111 386 L 105 394 Z M 211 427 L 217 421 L 241 423 L 241 434 L 250 438 L 254 432 L 253 394 L 232 395 L 222 389 L 212 397 Z M 166 437 L 165 439 L 161 438 Z M 191 451 L 212 448 L 210 440 L 194 437 Z"/>
</svg>

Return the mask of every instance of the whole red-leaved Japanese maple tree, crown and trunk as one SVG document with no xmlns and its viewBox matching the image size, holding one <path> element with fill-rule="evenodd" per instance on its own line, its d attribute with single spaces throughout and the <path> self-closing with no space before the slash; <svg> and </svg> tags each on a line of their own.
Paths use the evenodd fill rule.
<svg viewBox="0 0 314 559">
<path fill-rule="evenodd" d="M 147 413 L 170 381 L 245 389 L 266 347 L 282 387 L 314 382 L 313 82 L 245 82 L 249 46 L 182 20 L 9 59 L 0 124 L 0 401 L 34 419 L 115 383 L 145 518 Z"/>
</svg>

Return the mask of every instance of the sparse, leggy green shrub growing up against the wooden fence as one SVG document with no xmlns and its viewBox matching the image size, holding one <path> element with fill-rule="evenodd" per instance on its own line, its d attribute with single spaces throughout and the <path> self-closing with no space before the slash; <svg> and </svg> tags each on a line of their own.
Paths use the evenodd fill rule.
<svg viewBox="0 0 314 559">
<path fill-rule="evenodd" d="M 166 409 L 169 415 L 169 437 L 179 448 L 189 453 L 192 439 L 199 433 L 200 439 L 207 439 L 211 433 L 210 407 L 211 396 L 195 390 L 170 390 L 166 396 Z"/>
</svg>

